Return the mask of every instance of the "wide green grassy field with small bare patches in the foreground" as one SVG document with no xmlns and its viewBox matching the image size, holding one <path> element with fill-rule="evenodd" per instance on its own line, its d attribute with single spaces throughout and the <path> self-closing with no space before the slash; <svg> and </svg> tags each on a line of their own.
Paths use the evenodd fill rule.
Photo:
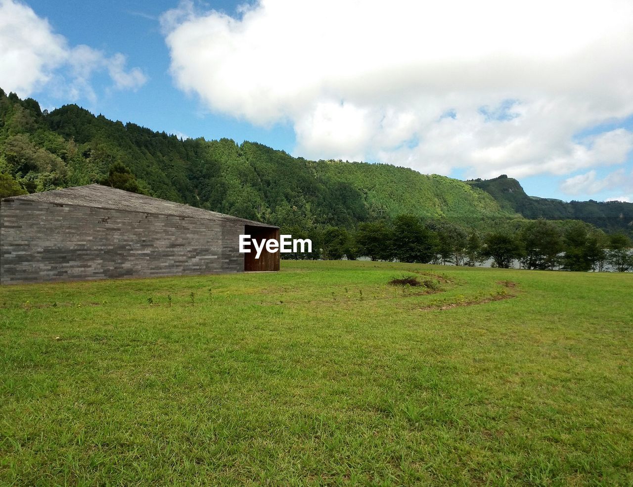
<svg viewBox="0 0 633 487">
<path fill-rule="evenodd" d="M 0 484 L 632 485 L 632 305 L 376 262 L 4 286 Z"/>
</svg>

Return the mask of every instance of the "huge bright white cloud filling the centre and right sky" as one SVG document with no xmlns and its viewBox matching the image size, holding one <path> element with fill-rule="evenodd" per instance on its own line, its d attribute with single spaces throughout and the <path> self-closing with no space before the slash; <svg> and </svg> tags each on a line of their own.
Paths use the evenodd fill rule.
<svg viewBox="0 0 633 487">
<path fill-rule="evenodd" d="M 633 114 L 628 0 L 260 0 L 162 17 L 177 86 L 213 111 L 289 122 L 295 152 L 468 176 L 621 164 Z"/>
</svg>

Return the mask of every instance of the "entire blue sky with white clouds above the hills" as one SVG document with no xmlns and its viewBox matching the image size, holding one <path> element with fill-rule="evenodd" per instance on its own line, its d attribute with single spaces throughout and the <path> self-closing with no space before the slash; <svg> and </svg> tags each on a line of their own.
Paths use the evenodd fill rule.
<svg viewBox="0 0 633 487">
<path fill-rule="evenodd" d="M 633 201 L 630 0 L 0 0 L 0 87 L 180 137 Z"/>
</svg>

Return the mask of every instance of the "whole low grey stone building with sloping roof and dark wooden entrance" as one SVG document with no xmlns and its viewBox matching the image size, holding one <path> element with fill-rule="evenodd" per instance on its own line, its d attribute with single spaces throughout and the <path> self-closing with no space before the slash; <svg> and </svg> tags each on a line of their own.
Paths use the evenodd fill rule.
<svg viewBox="0 0 633 487">
<path fill-rule="evenodd" d="M 279 228 L 97 184 L 0 202 L 0 284 L 278 271 Z M 245 259 L 246 256 L 246 259 Z"/>
</svg>

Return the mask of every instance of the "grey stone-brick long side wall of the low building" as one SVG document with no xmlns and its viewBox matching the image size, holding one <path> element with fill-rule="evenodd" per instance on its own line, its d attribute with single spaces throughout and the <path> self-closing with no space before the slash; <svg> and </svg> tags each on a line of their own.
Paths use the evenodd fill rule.
<svg viewBox="0 0 633 487">
<path fill-rule="evenodd" d="M 4 200 L 0 284 L 244 270 L 234 221 Z"/>
</svg>

